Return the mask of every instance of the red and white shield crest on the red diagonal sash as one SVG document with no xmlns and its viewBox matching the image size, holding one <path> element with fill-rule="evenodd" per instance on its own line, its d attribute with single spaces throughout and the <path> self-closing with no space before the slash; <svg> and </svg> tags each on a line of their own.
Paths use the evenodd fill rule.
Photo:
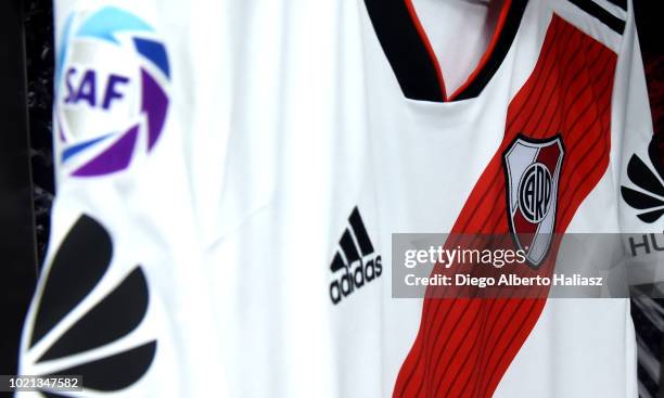
<svg viewBox="0 0 664 398">
<path fill-rule="evenodd" d="M 510 232 L 532 267 L 539 267 L 551 245 L 564 154 L 560 136 L 521 134 L 503 154 Z"/>
</svg>

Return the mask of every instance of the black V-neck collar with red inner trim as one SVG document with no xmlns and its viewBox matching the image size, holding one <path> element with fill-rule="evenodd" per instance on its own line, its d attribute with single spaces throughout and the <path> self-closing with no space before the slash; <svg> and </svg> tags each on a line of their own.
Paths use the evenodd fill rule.
<svg viewBox="0 0 664 398">
<path fill-rule="evenodd" d="M 478 97 L 507 56 L 527 0 L 506 0 L 491 40 L 465 82 L 448 95 L 440 65 L 412 0 L 365 0 L 383 51 L 410 100 L 456 102 Z"/>
</svg>

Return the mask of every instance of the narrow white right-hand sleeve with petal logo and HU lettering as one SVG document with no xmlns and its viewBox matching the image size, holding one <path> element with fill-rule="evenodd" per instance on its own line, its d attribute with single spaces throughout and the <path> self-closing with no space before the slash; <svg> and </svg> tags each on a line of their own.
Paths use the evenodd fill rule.
<svg viewBox="0 0 664 398">
<path fill-rule="evenodd" d="M 612 124 L 618 222 L 633 285 L 664 282 L 664 167 L 662 138 L 653 134 L 643 63 L 629 3 L 618 55 Z"/>
</svg>

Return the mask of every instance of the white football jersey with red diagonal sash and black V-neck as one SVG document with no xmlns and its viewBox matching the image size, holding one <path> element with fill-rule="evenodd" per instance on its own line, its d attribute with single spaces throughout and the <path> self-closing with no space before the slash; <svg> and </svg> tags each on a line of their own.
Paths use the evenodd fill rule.
<svg viewBox="0 0 664 398">
<path fill-rule="evenodd" d="M 662 233 L 630 3 L 505 1 L 454 92 L 409 0 L 69 5 L 21 373 L 86 396 L 637 396 L 628 300 L 392 298 L 391 247 Z M 552 211 L 506 201 L 519 156 L 551 170 Z"/>
</svg>

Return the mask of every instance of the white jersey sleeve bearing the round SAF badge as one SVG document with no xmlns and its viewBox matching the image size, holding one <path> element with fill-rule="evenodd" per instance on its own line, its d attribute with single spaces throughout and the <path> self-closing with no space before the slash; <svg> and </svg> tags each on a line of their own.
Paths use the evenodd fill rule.
<svg viewBox="0 0 664 398">
<path fill-rule="evenodd" d="M 56 196 L 20 374 L 81 375 L 86 397 L 205 396 L 213 380 L 225 396 L 193 178 L 215 105 L 193 76 L 218 66 L 195 40 L 203 3 L 54 2 Z"/>
</svg>

